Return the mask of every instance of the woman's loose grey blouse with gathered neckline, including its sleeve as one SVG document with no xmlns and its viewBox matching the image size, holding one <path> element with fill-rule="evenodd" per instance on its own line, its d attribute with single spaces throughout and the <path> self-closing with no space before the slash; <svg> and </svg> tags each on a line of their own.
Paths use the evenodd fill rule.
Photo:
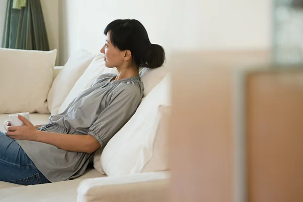
<svg viewBox="0 0 303 202">
<path fill-rule="evenodd" d="M 139 76 L 111 82 L 114 77 L 116 74 L 99 76 L 63 113 L 49 117 L 49 122 L 39 130 L 89 134 L 104 147 L 135 113 L 143 96 Z M 66 151 L 42 142 L 16 141 L 51 182 L 82 175 L 93 157 L 93 153 Z"/>
</svg>

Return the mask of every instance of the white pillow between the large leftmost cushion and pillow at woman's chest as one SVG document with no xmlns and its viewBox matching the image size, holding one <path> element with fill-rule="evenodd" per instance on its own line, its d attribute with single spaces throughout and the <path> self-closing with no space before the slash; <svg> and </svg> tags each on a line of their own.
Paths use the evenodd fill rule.
<svg viewBox="0 0 303 202">
<path fill-rule="evenodd" d="M 55 78 L 51 90 L 48 92 L 47 104 L 52 115 L 58 114 L 64 99 L 93 58 L 94 55 L 81 49 L 68 59 L 63 69 Z"/>
</svg>

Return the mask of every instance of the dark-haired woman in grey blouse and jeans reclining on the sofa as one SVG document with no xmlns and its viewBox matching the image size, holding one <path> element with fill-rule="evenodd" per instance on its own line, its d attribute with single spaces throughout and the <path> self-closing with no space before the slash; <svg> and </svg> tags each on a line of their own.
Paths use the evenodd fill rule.
<svg viewBox="0 0 303 202">
<path fill-rule="evenodd" d="M 130 119 L 143 95 L 140 67 L 157 68 L 164 49 L 151 44 L 137 20 L 115 20 L 105 29 L 105 66 L 118 74 L 100 75 L 61 114 L 34 126 L 19 116 L 24 126 L 0 132 L 0 180 L 40 184 L 82 175 L 94 151 L 104 147 Z"/>
</svg>

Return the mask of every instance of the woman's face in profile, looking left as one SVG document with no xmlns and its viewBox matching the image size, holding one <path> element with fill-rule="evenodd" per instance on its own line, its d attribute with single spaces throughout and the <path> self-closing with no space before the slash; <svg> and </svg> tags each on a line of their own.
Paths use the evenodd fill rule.
<svg viewBox="0 0 303 202">
<path fill-rule="evenodd" d="M 111 43 L 111 31 L 106 35 L 104 46 L 100 49 L 100 52 L 104 54 L 105 66 L 109 68 L 120 67 L 124 63 L 124 51 L 120 51 L 118 47 L 115 47 Z"/>
</svg>

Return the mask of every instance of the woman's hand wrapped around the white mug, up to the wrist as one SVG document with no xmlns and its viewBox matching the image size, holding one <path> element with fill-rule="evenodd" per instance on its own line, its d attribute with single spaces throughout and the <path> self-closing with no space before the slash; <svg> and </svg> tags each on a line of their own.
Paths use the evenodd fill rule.
<svg viewBox="0 0 303 202">
<path fill-rule="evenodd" d="M 35 126 L 23 116 L 18 115 L 18 118 L 24 123 L 23 126 L 10 126 L 6 132 L 8 137 L 13 139 L 22 139 L 36 141 L 38 130 Z"/>
</svg>

